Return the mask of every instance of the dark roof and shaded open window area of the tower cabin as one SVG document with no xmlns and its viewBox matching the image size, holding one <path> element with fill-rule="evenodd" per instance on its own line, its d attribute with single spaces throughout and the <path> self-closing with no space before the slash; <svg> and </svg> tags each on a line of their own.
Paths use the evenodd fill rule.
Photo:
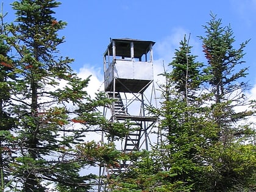
<svg viewBox="0 0 256 192">
<path fill-rule="evenodd" d="M 116 46 L 116 56 L 130 57 L 130 42 L 133 42 L 134 47 L 134 57 L 141 58 L 143 54 L 149 52 L 150 44 L 152 46 L 155 44 L 154 41 L 144 41 L 132 38 L 113 38 L 108 44 L 107 50 L 104 53 L 104 56 L 109 55 L 113 56 L 113 41 L 115 41 Z"/>
</svg>

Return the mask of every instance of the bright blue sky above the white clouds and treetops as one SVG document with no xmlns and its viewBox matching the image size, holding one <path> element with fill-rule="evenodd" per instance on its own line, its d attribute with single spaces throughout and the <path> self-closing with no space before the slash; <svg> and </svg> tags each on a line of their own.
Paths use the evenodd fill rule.
<svg viewBox="0 0 256 192">
<path fill-rule="evenodd" d="M 9 12 L 6 21 L 15 18 L 4 0 L 4 11 Z M 203 60 L 201 41 L 204 36 L 203 25 L 210 20 L 210 12 L 222 19 L 223 26 L 231 25 L 236 47 L 251 39 L 244 49 L 244 60 L 249 66 L 247 80 L 256 84 L 256 1 L 255 0 L 62 0 L 55 9 L 57 20 L 68 23 L 60 35 L 66 37 L 66 43 L 59 47 L 63 56 L 75 59 L 72 67 L 102 79 L 102 54 L 112 38 L 138 38 L 155 41 L 154 60 L 157 63 L 169 63 L 178 48 L 183 35 L 190 34 L 193 54 Z M 160 69 L 161 70 L 161 69 Z M 158 73 L 158 72 L 156 72 Z"/>
</svg>

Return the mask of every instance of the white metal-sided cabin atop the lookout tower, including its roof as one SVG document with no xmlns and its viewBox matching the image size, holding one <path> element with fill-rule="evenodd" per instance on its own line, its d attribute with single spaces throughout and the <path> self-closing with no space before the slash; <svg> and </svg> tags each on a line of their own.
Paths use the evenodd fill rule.
<svg viewBox="0 0 256 192">
<path fill-rule="evenodd" d="M 112 39 L 104 53 L 105 91 L 141 93 L 153 80 L 153 41 Z"/>
</svg>

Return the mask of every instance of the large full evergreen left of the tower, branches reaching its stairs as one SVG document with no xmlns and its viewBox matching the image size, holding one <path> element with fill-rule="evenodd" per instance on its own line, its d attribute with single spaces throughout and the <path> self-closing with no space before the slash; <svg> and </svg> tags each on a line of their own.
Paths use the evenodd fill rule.
<svg viewBox="0 0 256 192">
<path fill-rule="evenodd" d="M 59 191 L 87 191 L 96 176 L 80 171 L 85 166 L 112 165 L 119 154 L 112 145 L 85 142 L 87 132 L 110 132 L 122 125 L 109 123 L 98 112 L 97 107 L 111 101 L 104 93 L 90 98 L 89 77 L 77 77 L 70 66 L 73 59 L 60 56 L 57 46 L 64 37 L 57 32 L 66 23 L 54 18 L 53 9 L 59 5 L 54 0 L 15 1 L 16 24 L 7 26 L 16 79 L 15 87 L 4 93 L 13 101 L 9 108 L 17 119 L 12 132 L 18 145 L 10 165 L 13 183 L 26 192 L 45 191 L 49 184 Z M 10 68 L 6 65 L 1 65 L 5 76 Z M 60 87 L 60 82 L 66 85 Z"/>
</svg>

